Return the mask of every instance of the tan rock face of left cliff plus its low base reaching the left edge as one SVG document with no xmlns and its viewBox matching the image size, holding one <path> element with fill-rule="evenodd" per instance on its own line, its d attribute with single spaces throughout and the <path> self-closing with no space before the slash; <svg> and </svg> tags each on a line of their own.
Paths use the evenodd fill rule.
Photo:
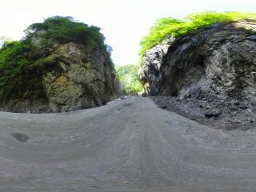
<svg viewBox="0 0 256 192">
<path fill-rule="evenodd" d="M 77 42 L 55 44 L 45 60 L 42 85 L 45 98 L 10 99 L 1 105 L 12 112 L 65 112 L 102 106 L 115 97 L 115 71 L 106 50 L 89 50 Z"/>
</svg>

